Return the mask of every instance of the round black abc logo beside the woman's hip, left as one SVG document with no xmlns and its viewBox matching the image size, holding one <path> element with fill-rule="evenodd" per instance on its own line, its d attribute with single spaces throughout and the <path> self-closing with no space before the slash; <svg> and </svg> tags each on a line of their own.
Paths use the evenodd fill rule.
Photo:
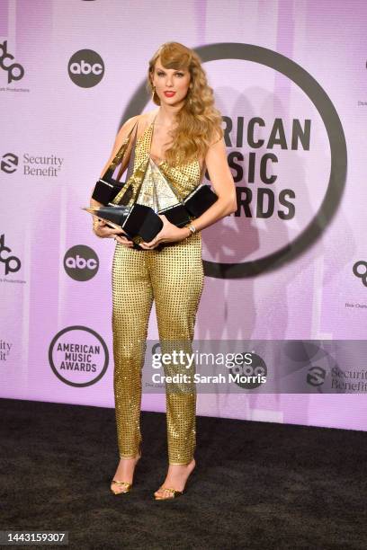
<svg viewBox="0 0 367 550">
<path fill-rule="evenodd" d="M 99 268 L 97 254 L 85 244 L 76 244 L 64 256 L 64 269 L 71 279 L 92 279 Z"/>
</svg>

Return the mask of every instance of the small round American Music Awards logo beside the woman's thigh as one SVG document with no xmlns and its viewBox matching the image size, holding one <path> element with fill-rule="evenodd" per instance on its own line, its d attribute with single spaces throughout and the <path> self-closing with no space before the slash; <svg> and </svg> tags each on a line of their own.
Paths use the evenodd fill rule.
<svg viewBox="0 0 367 550">
<path fill-rule="evenodd" d="M 69 326 L 49 344 L 49 365 L 67 386 L 92 386 L 106 373 L 109 353 L 102 336 L 86 326 Z"/>
</svg>

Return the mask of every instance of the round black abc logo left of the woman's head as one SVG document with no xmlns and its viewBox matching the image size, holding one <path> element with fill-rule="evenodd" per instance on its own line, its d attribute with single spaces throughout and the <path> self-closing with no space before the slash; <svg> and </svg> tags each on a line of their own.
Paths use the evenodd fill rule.
<svg viewBox="0 0 367 550">
<path fill-rule="evenodd" d="M 67 70 L 74 84 L 92 88 L 103 79 L 103 58 L 93 49 L 79 49 L 69 59 Z"/>
</svg>

